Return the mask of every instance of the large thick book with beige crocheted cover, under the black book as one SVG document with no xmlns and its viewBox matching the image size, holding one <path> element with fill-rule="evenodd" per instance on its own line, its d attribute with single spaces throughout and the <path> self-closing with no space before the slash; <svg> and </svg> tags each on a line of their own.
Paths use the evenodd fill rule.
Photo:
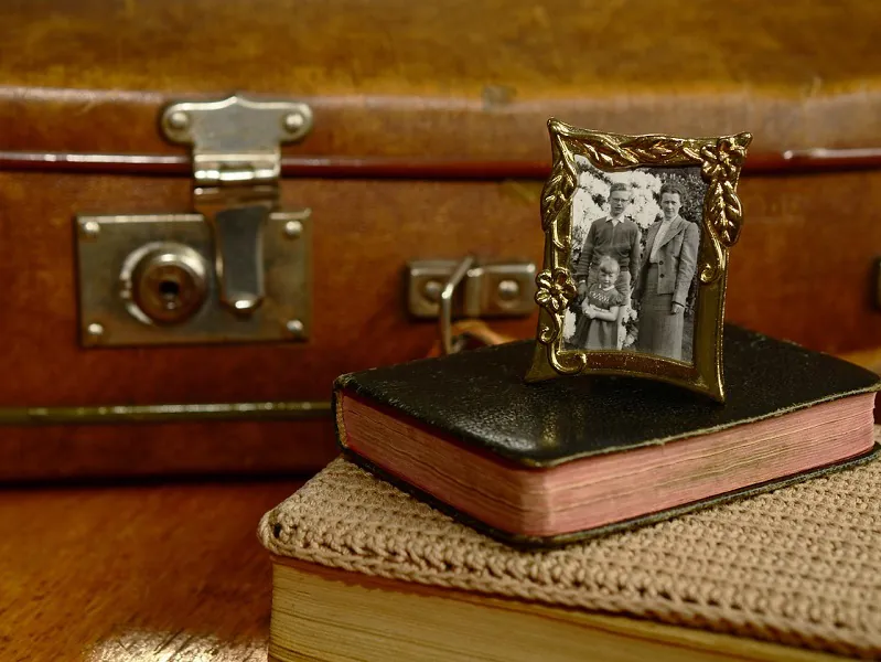
<svg viewBox="0 0 881 662">
<path fill-rule="evenodd" d="M 517 549 L 345 459 L 259 527 L 273 662 L 881 658 L 881 462 Z"/>
</svg>

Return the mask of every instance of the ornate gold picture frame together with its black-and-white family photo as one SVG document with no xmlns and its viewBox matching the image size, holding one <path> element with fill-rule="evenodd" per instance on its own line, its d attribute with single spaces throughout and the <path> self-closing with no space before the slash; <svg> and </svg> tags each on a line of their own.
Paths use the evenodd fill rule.
<svg viewBox="0 0 881 662">
<path fill-rule="evenodd" d="M 728 253 L 752 136 L 623 136 L 548 121 L 545 265 L 526 380 L 616 374 L 724 402 Z"/>
</svg>

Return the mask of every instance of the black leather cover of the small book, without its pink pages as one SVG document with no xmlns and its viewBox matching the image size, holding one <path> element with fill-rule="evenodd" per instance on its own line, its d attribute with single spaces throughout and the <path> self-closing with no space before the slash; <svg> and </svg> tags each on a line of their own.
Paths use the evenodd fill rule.
<svg viewBox="0 0 881 662">
<path fill-rule="evenodd" d="M 391 409 L 396 416 L 463 446 L 540 469 L 592 455 L 716 433 L 881 388 L 879 375 L 852 363 L 730 324 L 726 327 L 723 344 L 724 404 L 685 388 L 635 377 L 581 375 L 527 384 L 523 376 L 533 359 L 534 342 L 513 342 L 340 376 L 334 384 L 334 410 L 343 451 L 448 514 L 505 542 L 529 546 L 568 543 L 657 522 L 852 466 L 879 453 L 875 447 L 860 458 L 668 511 L 585 532 L 536 538 L 488 527 L 347 449 L 342 425 L 343 393 Z"/>
</svg>

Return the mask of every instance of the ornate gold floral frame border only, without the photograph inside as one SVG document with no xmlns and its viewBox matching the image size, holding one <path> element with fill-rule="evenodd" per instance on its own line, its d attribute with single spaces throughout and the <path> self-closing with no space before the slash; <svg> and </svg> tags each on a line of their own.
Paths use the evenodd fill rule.
<svg viewBox="0 0 881 662">
<path fill-rule="evenodd" d="M 548 120 L 554 167 L 541 192 L 544 269 L 536 276 L 538 331 L 528 382 L 565 375 L 616 374 L 667 382 L 724 402 L 722 328 L 728 253 L 743 222 L 737 194 L 750 134 L 718 138 L 623 136 L 579 129 Z M 571 207 L 578 186 L 576 157 L 604 172 L 644 167 L 699 167 L 707 193 L 698 252 L 698 293 L 692 361 L 685 363 L 628 351 L 563 348 L 563 317 L 577 290 L 572 257 Z"/>
</svg>

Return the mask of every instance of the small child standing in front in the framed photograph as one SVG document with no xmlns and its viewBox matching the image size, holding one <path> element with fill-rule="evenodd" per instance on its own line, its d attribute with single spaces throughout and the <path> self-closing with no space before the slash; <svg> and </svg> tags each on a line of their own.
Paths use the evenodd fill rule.
<svg viewBox="0 0 881 662">
<path fill-rule="evenodd" d="M 610 256 L 600 258 L 597 282 L 588 289 L 581 303 L 584 313 L 576 328 L 579 346 L 587 350 L 616 350 L 617 313 L 624 305 L 624 296 L 615 287 L 621 267 Z"/>
</svg>

